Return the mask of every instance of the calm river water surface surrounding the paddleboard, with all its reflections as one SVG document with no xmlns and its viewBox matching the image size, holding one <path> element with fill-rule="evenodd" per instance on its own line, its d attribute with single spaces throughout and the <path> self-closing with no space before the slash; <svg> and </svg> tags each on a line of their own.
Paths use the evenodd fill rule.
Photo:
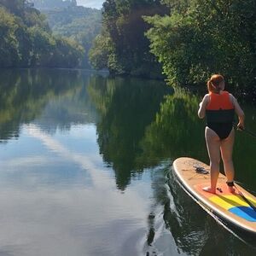
<svg viewBox="0 0 256 256">
<path fill-rule="evenodd" d="M 0 71 L 0 255 L 255 255 L 170 173 L 179 156 L 207 161 L 199 102 L 156 81 Z M 237 133 L 236 180 L 250 190 L 255 152 Z"/>
</svg>

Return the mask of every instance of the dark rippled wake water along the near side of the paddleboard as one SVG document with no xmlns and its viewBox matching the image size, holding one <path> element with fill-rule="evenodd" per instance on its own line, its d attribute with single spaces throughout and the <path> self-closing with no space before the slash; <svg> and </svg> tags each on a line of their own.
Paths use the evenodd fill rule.
<svg viewBox="0 0 256 256">
<path fill-rule="evenodd" d="M 231 233 L 217 224 L 177 183 L 170 161 L 151 172 L 154 202 L 148 214 L 145 254 L 254 255 L 255 237 L 237 230 Z"/>
</svg>

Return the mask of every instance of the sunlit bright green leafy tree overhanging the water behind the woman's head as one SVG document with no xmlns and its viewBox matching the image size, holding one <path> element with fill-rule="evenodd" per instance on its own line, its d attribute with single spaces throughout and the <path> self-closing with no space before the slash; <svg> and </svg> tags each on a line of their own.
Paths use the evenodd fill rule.
<svg viewBox="0 0 256 256">
<path fill-rule="evenodd" d="M 163 0 L 171 14 L 148 17 L 151 52 L 171 84 L 205 84 L 223 73 L 236 91 L 256 95 L 256 2 Z"/>
</svg>

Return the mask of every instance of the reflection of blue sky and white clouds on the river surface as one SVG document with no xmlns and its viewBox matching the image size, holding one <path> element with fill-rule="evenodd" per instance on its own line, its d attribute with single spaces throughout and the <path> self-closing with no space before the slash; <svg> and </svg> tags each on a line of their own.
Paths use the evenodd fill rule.
<svg viewBox="0 0 256 256">
<path fill-rule="evenodd" d="M 81 145 L 78 152 L 69 149 L 71 142 L 84 144 L 84 152 Z M 33 124 L 4 145 L 2 248 L 12 241 L 7 251 L 17 255 L 117 255 L 125 241 L 145 233 L 148 184 L 120 193 L 95 145 L 94 125 L 73 127 L 67 140 Z"/>
</svg>

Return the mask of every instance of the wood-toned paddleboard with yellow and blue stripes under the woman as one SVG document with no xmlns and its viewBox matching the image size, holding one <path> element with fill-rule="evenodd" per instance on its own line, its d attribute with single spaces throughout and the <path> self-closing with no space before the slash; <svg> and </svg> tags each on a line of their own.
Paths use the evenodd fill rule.
<svg viewBox="0 0 256 256">
<path fill-rule="evenodd" d="M 216 194 L 202 188 L 210 185 L 210 166 L 199 160 L 183 157 L 173 162 L 174 173 L 183 189 L 207 212 L 213 213 L 224 223 L 256 236 L 256 197 L 236 184 L 230 193 L 226 177 L 219 174 Z M 212 215 L 212 214 L 211 214 Z"/>
</svg>

